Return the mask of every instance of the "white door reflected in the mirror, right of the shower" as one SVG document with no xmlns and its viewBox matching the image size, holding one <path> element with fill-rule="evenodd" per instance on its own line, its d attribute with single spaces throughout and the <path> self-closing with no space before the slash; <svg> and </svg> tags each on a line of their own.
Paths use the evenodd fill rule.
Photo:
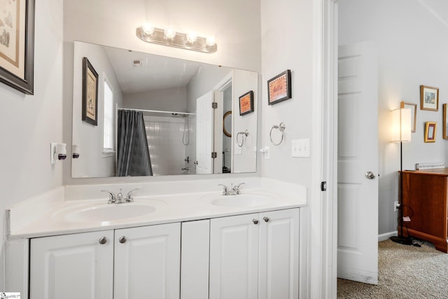
<svg viewBox="0 0 448 299">
<path fill-rule="evenodd" d="M 209 91 L 197 98 L 196 104 L 196 173 L 211 174 L 213 172 L 213 160 L 211 151 L 213 148 L 213 92 Z"/>
</svg>

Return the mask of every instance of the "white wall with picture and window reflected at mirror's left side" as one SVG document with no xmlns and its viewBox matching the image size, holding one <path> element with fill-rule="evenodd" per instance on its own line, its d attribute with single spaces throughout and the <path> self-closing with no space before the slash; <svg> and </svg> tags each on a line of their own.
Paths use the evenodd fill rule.
<svg viewBox="0 0 448 299">
<path fill-rule="evenodd" d="M 73 177 L 115 176 L 115 154 L 103 153 L 104 81 L 107 80 L 113 90 L 114 107 L 115 104 L 119 107 L 123 105 L 123 92 L 102 46 L 75 43 L 73 53 L 73 144 L 79 146 L 80 158 L 72 160 L 69 157 L 67 162 L 72 163 Z M 98 74 L 97 125 L 86 123 L 80 118 L 83 106 L 83 57 L 87 57 Z"/>
</svg>

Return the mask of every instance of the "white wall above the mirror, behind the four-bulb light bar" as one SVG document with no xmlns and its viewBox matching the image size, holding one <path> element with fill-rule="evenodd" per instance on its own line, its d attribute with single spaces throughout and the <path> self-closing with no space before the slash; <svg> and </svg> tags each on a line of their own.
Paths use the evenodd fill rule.
<svg viewBox="0 0 448 299">
<path fill-rule="evenodd" d="M 76 0 L 64 3 L 64 39 L 179 57 L 260 71 L 260 1 L 258 0 Z M 82 20 L 82 21 L 80 21 Z M 145 43 L 135 29 L 144 22 L 155 27 L 214 34 L 212 54 Z"/>
</svg>

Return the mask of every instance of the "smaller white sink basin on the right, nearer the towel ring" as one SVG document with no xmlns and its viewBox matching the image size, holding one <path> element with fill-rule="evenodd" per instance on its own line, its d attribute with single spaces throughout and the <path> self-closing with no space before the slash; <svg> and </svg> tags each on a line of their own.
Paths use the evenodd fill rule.
<svg viewBox="0 0 448 299">
<path fill-rule="evenodd" d="M 248 193 L 239 195 L 207 195 L 211 204 L 220 207 L 258 207 L 276 201 L 274 195 Z"/>
</svg>

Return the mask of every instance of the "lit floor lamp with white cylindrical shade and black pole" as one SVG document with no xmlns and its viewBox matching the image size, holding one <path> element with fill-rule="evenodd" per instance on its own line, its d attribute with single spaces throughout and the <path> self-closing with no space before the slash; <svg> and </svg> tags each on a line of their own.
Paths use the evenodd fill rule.
<svg viewBox="0 0 448 299">
<path fill-rule="evenodd" d="M 400 142 L 400 195 L 398 202 L 400 203 L 400 209 L 398 211 L 398 236 L 391 237 L 391 240 L 396 243 L 412 245 L 412 239 L 407 236 L 403 236 L 403 142 L 411 141 L 411 109 L 396 109 L 392 111 L 393 117 L 393 137 L 394 142 Z"/>
</svg>

